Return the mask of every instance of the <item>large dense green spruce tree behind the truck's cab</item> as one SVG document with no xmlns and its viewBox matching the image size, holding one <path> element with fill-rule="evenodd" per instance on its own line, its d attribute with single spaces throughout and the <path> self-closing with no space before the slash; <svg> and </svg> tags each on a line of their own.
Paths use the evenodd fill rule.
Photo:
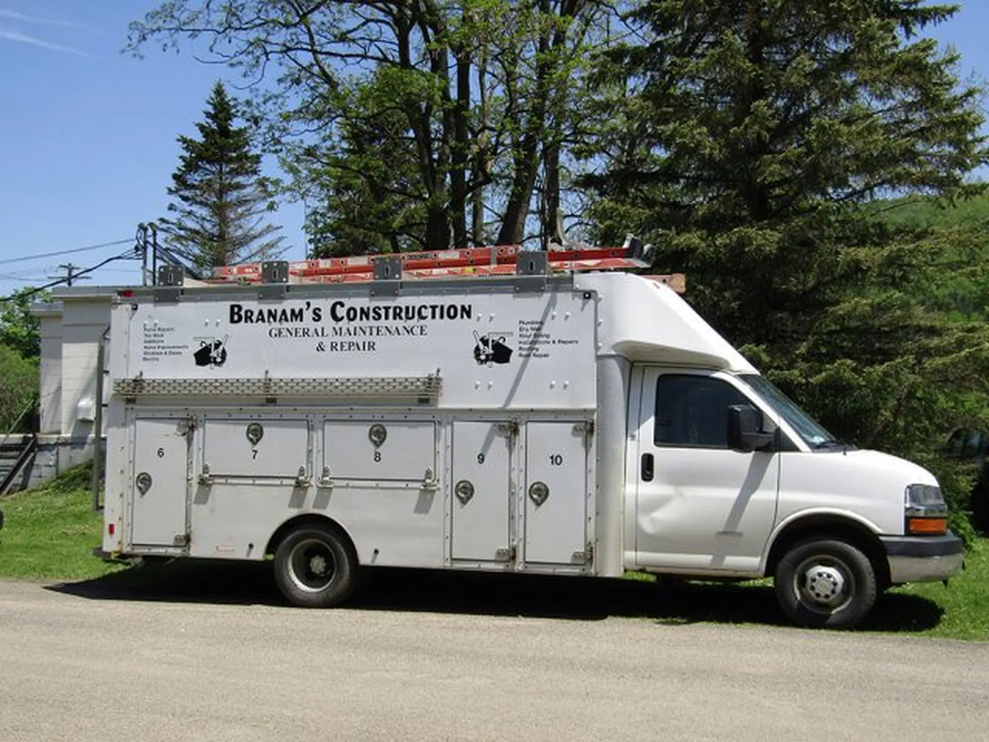
<svg viewBox="0 0 989 742">
<path fill-rule="evenodd" d="M 982 91 L 921 0 L 653 0 L 604 60 L 604 236 L 637 230 L 688 300 L 833 432 L 927 461 L 989 417 L 989 327 L 936 287 L 958 245 L 894 196 L 959 198 L 986 161 Z M 951 484 L 954 482 L 955 484 Z M 961 501 L 963 502 L 963 500 Z M 960 510 L 960 509 L 959 509 Z"/>
</svg>

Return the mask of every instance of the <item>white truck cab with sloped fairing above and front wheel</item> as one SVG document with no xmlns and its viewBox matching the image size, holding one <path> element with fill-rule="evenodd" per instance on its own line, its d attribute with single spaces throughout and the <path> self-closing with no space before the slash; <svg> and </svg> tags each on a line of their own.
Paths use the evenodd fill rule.
<svg viewBox="0 0 989 742">
<path fill-rule="evenodd" d="M 668 287 L 627 278 L 601 292 L 599 351 L 628 364 L 627 569 L 772 577 L 809 626 L 854 625 L 887 587 L 961 569 L 930 472 L 838 441 Z"/>
</svg>

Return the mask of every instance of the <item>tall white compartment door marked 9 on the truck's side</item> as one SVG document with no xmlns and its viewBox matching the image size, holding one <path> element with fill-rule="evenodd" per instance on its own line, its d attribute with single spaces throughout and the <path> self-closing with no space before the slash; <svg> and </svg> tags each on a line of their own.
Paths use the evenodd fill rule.
<svg viewBox="0 0 989 742">
<path fill-rule="evenodd" d="M 507 423 L 453 423 L 452 558 L 508 561 L 511 433 Z"/>
</svg>

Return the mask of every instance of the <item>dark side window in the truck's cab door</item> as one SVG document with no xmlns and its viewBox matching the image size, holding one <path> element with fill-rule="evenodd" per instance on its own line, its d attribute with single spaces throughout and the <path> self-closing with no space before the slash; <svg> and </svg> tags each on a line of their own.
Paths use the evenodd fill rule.
<svg viewBox="0 0 989 742">
<path fill-rule="evenodd" d="M 727 448 L 728 408 L 750 404 L 745 395 L 720 379 L 661 376 L 656 382 L 654 442 L 658 446 Z"/>
</svg>

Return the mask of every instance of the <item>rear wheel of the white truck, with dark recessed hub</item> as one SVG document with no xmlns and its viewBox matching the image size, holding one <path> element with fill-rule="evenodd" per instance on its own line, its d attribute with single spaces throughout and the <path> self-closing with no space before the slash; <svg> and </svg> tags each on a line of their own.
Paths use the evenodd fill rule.
<svg viewBox="0 0 989 742">
<path fill-rule="evenodd" d="M 328 528 L 303 526 L 275 551 L 275 583 L 289 603 L 328 608 L 346 600 L 357 582 L 350 542 Z"/>
</svg>

